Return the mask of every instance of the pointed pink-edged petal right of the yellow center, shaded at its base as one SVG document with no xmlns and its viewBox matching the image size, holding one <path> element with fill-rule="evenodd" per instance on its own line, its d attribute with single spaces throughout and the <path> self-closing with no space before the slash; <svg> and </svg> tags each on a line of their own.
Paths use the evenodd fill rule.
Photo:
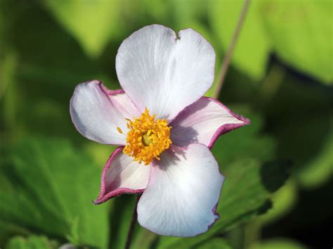
<svg viewBox="0 0 333 249">
<path fill-rule="evenodd" d="M 211 148 L 220 135 L 249 122 L 249 119 L 231 112 L 221 102 L 201 97 L 170 123 L 171 141 L 181 147 L 198 142 Z"/>
</svg>

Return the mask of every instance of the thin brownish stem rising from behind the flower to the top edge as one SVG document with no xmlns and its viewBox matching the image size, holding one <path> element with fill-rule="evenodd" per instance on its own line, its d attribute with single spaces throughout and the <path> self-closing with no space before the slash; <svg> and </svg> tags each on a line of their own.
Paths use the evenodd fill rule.
<svg viewBox="0 0 333 249">
<path fill-rule="evenodd" d="M 233 55 L 233 50 L 235 48 L 235 45 L 236 45 L 236 42 L 237 42 L 237 39 L 238 39 L 238 35 L 240 34 L 240 30 L 242 29 L 242 25 L 244 23 L 244 19 L 245 19 L 245 16 L 247 14 L 247 9 L 249 8 L 249 3 L 250 3 L 250 0 L 244 0 L 244 5 L 243 5 L 243 8 L 242 8 L 242 12 L 240 13 L 240 18 L 238 19 L 235 32 L 233 33 L 233 39 L 231 40 L 231 43 L 228 47 L 226 57 L 223 60 L 221 71 L 220 71 L 220 74 L 218 76 L 218 81 L 217 81 L 218 83 L 216 85 L 216 88 L 214 90 L 214 95 L 213 95 L 213 97 L 215 99 L 218 98 L 218 95 L 220 94 L 220 91 L 221 91 L 223 83 L 224 83 L 224 79 L 226 78 L 226 73 L 227 73 L 228 67 L 230 65 L 231 55 Z"/>
</svg>

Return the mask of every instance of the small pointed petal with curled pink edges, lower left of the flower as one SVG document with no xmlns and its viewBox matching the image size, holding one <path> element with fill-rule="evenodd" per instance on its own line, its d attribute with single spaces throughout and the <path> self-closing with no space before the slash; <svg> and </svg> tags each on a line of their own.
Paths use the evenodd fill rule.
<svg viewBox="0 0 333 249">
<path fill-rule="evenodd" d="M 95 204 L 100 204 L 108 199 L 122 194 L 142 193 L 147 187 L 150 166 L 134 162 L 133 158 L 125 155 L 118 147 L 107 160 L 102 173 L 100 194 Z"/>
</svg>

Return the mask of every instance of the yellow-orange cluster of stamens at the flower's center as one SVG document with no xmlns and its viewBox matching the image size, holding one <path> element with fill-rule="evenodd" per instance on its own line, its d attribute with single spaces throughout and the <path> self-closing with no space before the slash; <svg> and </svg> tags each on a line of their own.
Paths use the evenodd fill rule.
<svg viewBox="0 0 333 249">
<path fill-rule="evenodd" d="M 172 143 L 170 140 L 171 126 L 168 126 L 168 121 L 166 119 L 155 121 L 155 115 L 150 116 L 147 108 L 140 118 L 134 117 L 133 119 L 133 121 L 126 119 L 129 132 L 123 150 L 124 154 L 132 156 L 138 163 L 144 162 L 145 165 L 150 164 L 153 159 L 160 160 L 159 154 L 168 149 Z M 120 128 L 117 130 L 122 133 Z"/>
</svg>

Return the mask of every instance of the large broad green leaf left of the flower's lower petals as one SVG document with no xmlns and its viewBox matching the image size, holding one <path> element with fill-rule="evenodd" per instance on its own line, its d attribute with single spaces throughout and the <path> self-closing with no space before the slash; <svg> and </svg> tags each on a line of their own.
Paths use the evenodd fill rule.
<svg viewBox="0 0 333 249">
<path fill-rule="evenodd" d="M 107 204 L 94 206 L 100 169 L 65 140 L 26 139 L 0 170 L 0 220 L 77 245 L 107 246 Z"/>
</svg>

